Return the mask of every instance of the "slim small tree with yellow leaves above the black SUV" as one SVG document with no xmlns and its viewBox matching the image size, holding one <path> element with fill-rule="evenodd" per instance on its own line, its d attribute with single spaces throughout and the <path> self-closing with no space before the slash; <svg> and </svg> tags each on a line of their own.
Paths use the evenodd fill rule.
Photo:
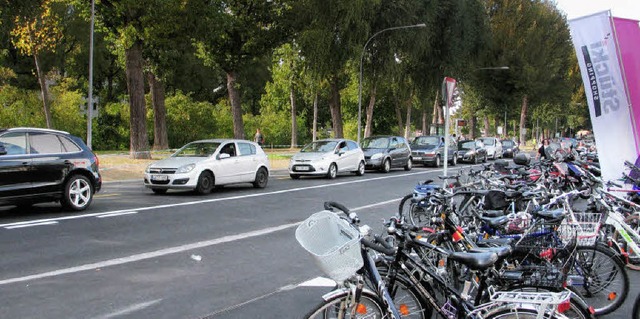
<svg viewBox="0 0 640 319">
<path fill-rule="evenodd" d="M 33 56 L 47 128 L 53 128 L 53 123 L 45 72 L 39 56 L 42 52 L 54 50 L 59 39 L 62 38 L 59 18 L 52 10 L 54 2 L 55 0 L 44 0 L 36 10 L 22 10 L 16 15 L 14 28 L 11 31 L 15 47 L 22 54 Z"/>
</svg>

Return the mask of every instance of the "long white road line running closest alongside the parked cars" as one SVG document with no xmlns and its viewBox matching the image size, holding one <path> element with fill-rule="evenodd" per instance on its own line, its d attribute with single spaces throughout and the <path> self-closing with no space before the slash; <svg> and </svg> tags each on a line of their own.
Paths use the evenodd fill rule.
<svg viewBox="0 0 640 319">
<path fill-rule="evenodd" d="M 458 170 L 458 169 L 463 169 L 463 168 L 460 167 L 460 168 L 456 168 L 456 169 L 452 169 L 452 170 Z M 129 211 L 138 211 L 138 212 L 140 212 L 140 211 L 147 211 L 147 210 L 153 210 L 153 209 L 173 208 L 173 207 L 179 207 L 179 206 L 191 206 L 191 205 L 198 205 L 198 204 L 204 204 L 204 203 L 222 202 L 222 201 L 236 200 L 236 199 L 246 199 L 246 198 L 252 198 L 252 197 L 262 197 L 262 196 L 269 196 L 269 195 L 276 195 L 276 194 L 284 194 L 284 193 L 289 193 L 289 192 L 300 192 L 300 191 L 306 191 L 306 190 L 312 190 L 312 189 L 318 189 L 318 188 L 343 186 L 343 185 L 356 184 L 356 183 L 366 183 L 366 182 L 369 182 L 369 181 L 377 181 L 377 180 L 383 180 L 383 179 L 389 179 L 389 178 L 398 178 L 398 177 L 405 177 L 405 176 L 412 176 L 412 175 L 420 175 L 420 174 L 427 174 L 427 173 L 440 172 L 440 171 L 442 171 L 442 170 L 431 170 L 431 171 L 405 173 L 405 174 L 391 175 L 391 176 L 381 176 L 381 177 L 374 177 L 374 178 L 369 178 L 369 179 L 359 179 L 359 180 L 351 180 L 351 181 L 346 181 L 346 182 L 338 182 L 338 183 L 331 183 L 331 184 L 322 184 L 322 185 L 315 185 L 315 186 L 308 186 L 308 187 L 285 189 L 285 190 L 273 191 L 273 192 L 268 192 L 268 193 L 257 193 L 257 194 L 230 196 L 230 197 L 223 197 L 223 198 L 212 198 L 212 199 L 204 199 L 204 200 L 193 201 L 193 202 L 184 202 L 184 203 L 157 205 L 157 206 L 145 206 L 145 207 L 138 207 L 138 208 L 129 208 L 129 209 L 108 211 L 108 212 L 100 212 L 100 213 L 91 213 L 91 214 L 83 214 L 83 215 L 72 215 L 72 216 L 56 217 L 56 218 L 49 218 L 49 219 L 30 220 L 30 221 L 24 221 L 24 222 L 0 224 L 0 227 L 5 227 L 6 228 L 6 227 L 11 227 L 11 226 L 17 226 L 17 225 L 33 224 L 33 223 L 48 222 L 48 221 L 72 220 L 72 219 L 96 217 L 96 216 L 105 215 L 105 214 L 115 214 L 115 213 L 129 212 Z M 175 211 L 172 211 L 172 213 L 175 213 Z"/>
</svg>

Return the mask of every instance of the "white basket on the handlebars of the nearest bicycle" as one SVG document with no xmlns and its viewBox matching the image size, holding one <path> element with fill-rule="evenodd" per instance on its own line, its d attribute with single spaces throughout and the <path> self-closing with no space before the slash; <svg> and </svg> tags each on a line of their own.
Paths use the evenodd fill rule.
<svg viewBox="0 0 640 319">
<path fill-rule="evenodd" d="M 296 229 L 296 240 L 329 278 L 343 282 L 362 268 L 360 233 L 333 212 L 321 211 Z"/>
</svg>

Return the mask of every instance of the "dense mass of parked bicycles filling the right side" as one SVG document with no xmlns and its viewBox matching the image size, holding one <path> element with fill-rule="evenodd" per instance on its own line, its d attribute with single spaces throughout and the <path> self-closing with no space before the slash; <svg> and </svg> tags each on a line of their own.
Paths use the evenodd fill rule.
<svg viewBox="0 0 640 319">
<path fill-rule="evenodd" d="M 338 284 L 306 318 L 596 318 L 635 298 L 640 319 L 637 191 L 574 155 L 419 183 L 381 233 L 326 202 L 296 239 Z"/>
</svg>

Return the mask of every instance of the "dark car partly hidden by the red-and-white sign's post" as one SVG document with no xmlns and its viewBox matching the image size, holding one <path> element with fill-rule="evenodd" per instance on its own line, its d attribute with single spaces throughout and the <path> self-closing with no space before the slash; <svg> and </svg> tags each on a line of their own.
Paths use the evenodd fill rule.
<svg viewBox="0 0 640 319">
<path fill-rule="evenodd" d="M 411 159 L 414 164 L 438 167 L 444 160 L 444 136 L 418 136 L 411 142 Z M 453 137 L 449 139 L 449 156 L 451 165 L 458 162 L 458 144 Z"/>
</svg>

